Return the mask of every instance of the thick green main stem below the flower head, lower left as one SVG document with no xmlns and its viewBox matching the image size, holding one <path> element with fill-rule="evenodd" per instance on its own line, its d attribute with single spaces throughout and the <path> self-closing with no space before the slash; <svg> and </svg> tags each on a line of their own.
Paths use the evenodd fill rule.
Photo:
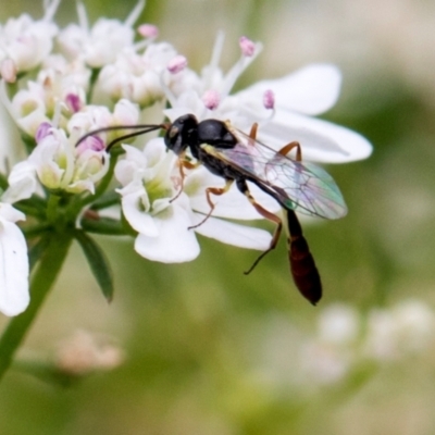
<svg viewBox="0 0 435 435">
<path fill-rule="evenodd" d="M 12 363 L 14 353 L 53 286 L 66 258 L 72 235 L 52 233 L 39 265 L 32 277 L 30 304 L 24 313 L 13 318 L 0 338 L 0 381 Z"/>
</svg>

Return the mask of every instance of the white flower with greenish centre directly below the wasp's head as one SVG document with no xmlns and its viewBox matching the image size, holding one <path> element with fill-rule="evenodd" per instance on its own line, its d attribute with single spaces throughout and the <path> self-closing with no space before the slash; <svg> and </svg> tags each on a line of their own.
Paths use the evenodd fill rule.
<svg viewBox="0 0 435 435">
<path fill-rule="evenodd" d="M 269 233 L 215 217 L 231 214 L 231 217 L 252 219 L 251 208 L 245 203 L 240 206 L 240 201 L 235 208 L 219 207 L 225 201 L 236 203 L 231 192 L 222 197 L 213 216 L 189 229 L 204 219 L 201 212 L 207 214 L 210 210 L 206 187 L 215 187 L 216 183 L 222 185 L 222 178 L 204 169 L 192 171 L 179 194 L 176 157 L 166 152 L 161 138 L 151 139 L 144 151 L 130 146 L 124 146 L 124 149 L 126 158 L 117 163 L 115 176 L 123 186 L 119 192 L 125 219 L 138 232 L 135 249 L 139 254 L 167 263 L 194 260 L 199 254 L 195 232 L 239 247 L 259 250 L 269 247 Z M 240 194 L 234 194 L 239 199 Z"/>
</svg>

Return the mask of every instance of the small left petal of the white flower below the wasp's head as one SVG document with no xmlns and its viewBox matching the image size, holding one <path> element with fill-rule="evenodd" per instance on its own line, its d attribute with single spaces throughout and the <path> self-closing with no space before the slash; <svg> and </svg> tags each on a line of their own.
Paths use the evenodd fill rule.
<svg viewBox="0 0 435 435">
<path fill-rule="evenodd" d="M 156 237 L 159 234 L 159 229 L 156 226 L 154 219 L 141 210 L 141 199 L 145 190 L 136 190 L 135 192 L 125 195 L 122 197 L 121 206 L 125 219 L 138 233 L 146 234 L 150 237 Z"/>
</svg>

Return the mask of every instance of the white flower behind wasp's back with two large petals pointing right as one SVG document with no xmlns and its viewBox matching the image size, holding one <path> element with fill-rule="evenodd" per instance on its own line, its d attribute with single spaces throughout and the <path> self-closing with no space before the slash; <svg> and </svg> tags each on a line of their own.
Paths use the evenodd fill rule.
<svg viewBox="0 0 435 435">
<path fill-rule="evenodd" d="M 243 52 L 238 63 L 224 75 L 216 60 L 222 44 L 220 36 L 211 64 L 203 70 L 201 77 L 192 79 L 191 72 L 186 71 L 182 74 L 189 74 L 189 85 L 166 91 L 172 108 L 165 114 L 171 121 L 192 113 L 200 121 L 210 117 L 231 120 L 236 127 L 247 132 L 252 123 L 259 122 L 259 140 L 276 150 L 298 140 L 304 160 L 343 163 L 370 156 L 372 146 L 361 135 L 311 117 L 332 108 L 338 98 L 341 76 L 336 66 L 312 64 L 283 78 L 259 82 L 231 95 L 237 77 L 261 47 L 256 45 L 253 55 L 249 58 Z M 214 98 L 210 99 L 210 95 Z M 273 109 L 271 95 L 274 96 Z"/>
</svg>

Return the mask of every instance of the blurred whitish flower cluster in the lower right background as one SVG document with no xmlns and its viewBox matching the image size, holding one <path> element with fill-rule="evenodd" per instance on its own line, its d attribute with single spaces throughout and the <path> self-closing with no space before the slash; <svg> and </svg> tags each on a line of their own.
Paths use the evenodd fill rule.
<svg viewBox="0 0 435 435">
<path fill-rule="evenodd" d="M 256 341 L 261 361 L 254 368 L 278 390 L 300 386 L 328 386 L 371 377 L 383 364 L 428 356 L 435 339 L 435 312 L 419 299 L 372 308 L 365 314 L 347 303 L 334 303 L 319 312 L 312 333 L 287 318 L 273 319 Z M 431 358 L 431 357 L 430 357 Z M 349 382 L 350 381 L 350 382 Z"/>
</svg>

